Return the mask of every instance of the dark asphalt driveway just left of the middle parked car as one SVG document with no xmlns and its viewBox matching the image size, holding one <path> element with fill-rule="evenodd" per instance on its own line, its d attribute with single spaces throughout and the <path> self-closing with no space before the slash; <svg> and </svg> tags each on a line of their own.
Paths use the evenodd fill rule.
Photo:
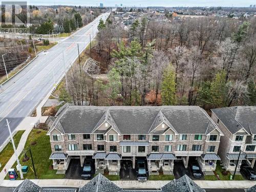
<svg viewBox="0 0 256 192">
<path fill-rule="evenodd" d="M 131 160 L 121 160 L 120 180 L 137 180 L 136 169 L 133 169 L 133 162 Z"/>
</svg>

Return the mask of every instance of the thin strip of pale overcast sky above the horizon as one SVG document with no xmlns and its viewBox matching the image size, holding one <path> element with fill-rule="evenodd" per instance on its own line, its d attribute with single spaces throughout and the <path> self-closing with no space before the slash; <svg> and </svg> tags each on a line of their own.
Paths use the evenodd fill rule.
<svg viewBox="0 0 256 192">
<path fill-rule="evenodd" d="M 8 1 L 8 0 L 7 0 Z M 23 0 L 24 1 L 24 0 Z M 26 0 L 25 0 L 26 1 Z M 222 6 L 249 7 L 256 4 L 256 0 L 28 0 L 30 5 L 81 5 L 81 6 L 163 6 L 163 7 L 194 7 L 194 6 Z"/>
</svg>

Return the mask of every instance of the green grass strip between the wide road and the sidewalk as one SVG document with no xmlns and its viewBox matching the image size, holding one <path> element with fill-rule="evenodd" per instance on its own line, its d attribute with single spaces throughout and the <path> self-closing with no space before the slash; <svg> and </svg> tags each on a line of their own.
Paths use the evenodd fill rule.
<svg viewBox="0 0 256 192">
<path fill-rule="evenodd" d="M 17 133 L 14 135 L 13 140 L 14 140 L 14 144 L 17 147 L 20 138 L 22 137 L 22 134 L 25 132 L 25 130 L 22 131 L 17 131 Z M 2 171 L 2 169 L 5 167 L 6 163 L 9 161 L 9 159 L 11 158 L 11 156 L 14 154 L 13 151 L 13 147 L 12 147 L 12 143 L 9 142 L 5 148 L 3 149 L 2 152 L 0 152 L 0 163 L 1 163 L 1 167 L 0 167 L 0 172 Z"/>
</svg>

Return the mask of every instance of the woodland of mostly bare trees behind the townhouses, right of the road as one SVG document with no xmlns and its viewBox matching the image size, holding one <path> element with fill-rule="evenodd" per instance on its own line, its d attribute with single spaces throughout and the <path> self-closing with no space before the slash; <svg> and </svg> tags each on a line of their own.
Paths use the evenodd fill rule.
<svg viewBox="0 0 256 192">
<path fill-rule="evenodd" d="M 148 13 L 124 30 L 112 13 L 98 29 L 93 50 L 115 78 L 88 81 L 87 104 L 256 104 L 256 17 L 159 22 Z"/>
</svg>

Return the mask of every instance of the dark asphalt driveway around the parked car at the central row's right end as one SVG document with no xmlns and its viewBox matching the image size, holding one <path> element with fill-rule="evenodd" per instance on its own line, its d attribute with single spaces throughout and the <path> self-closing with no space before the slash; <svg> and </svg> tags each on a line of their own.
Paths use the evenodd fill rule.
<svg viewBox="0 0 256 192">
<path fill-rule="evenodd" d="M 187 175 L 189 178 L 191 178 L 193 180 L 204 180 L 203 174 L 202 174 L 201 178 L 195 178 L 192 176 L 192 171 L 189 167 L 189 164 L 188 164 L 188 167 L 185 168 L 182 160 L 174 161 L 174 177 L 175 177 L 175 179 L 179 179 L 183 175 Z"/>
</svg>

